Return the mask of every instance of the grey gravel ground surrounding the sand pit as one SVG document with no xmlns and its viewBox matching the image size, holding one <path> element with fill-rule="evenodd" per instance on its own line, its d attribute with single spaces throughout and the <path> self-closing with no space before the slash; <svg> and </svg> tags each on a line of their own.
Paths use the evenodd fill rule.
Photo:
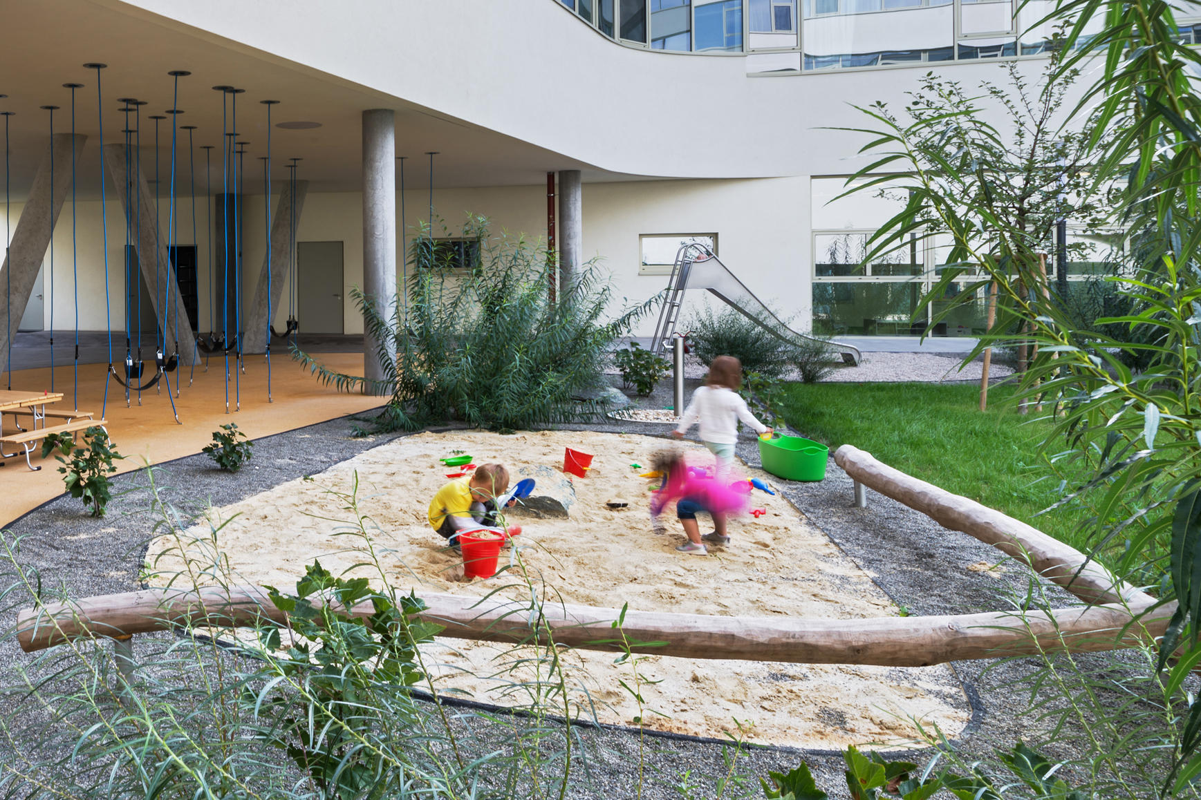
<svg viewBox="0 0 1201 800">
<path fill-rule="evenodd" d="M 878 357 L 888 360 L 896 355 Z M 931 373 L 927 374 L 943 369 L 944 362 L 950 361 L 938 356 L 914 357 L 928 362 Z M 907 379 L 914 380 L 916 375 L 910 371 Z M 688 381 L 689 393 L 695 385 L 695 380 Z M 661 386 L 645 404 L 655 408 L 667 403 L 670 403 L 670 385 Z M 237 476 L 219 473 L 204 456 L 193 456 L 156 468 L 155 481 L 165 500 L 184 516 L 192 517 L 209 504 L 226 505 L 245 499 L 281 482 L 318 473 L 394 438 L 352 439 L 349 426 L 349 421 L 342 419 L 261 439 L 256 443 L 253 461 Z M 567 427 L 669 435 L 667 426 L 655 423 L 614 421 Z M 752 435 L 745 435 L 739 444 L 739 456 L 751 465 L 759 465 Z M 906 468 L 904 464 L 896 467 Z M 126 493 L 113 500 L 104 519 L 84 516 L 78 500 L 62 497 L 13 523 L 10 533 L 23 537 L 19 561 L 26 567 L 37 567 L 47 579 L 64 583 L 76 597 L 138 588 L 138 571 L 154 523 L 144 513 L 149 501 L 147 476 L 144 473 L 121 475 L 114 482 Z M 927 517 L 874 493 L 870 493 L 866 509 L 853 507 L 850 479 L 832 459 L 826 479 L 819 483 L 779 483 L 800 513 L 876 576 L 884 591 L 914 614 L 1000 609 L 1009 607 L 1006 597 L 1027 591 L 1030 575 L 1014 564 L 1003 565 L 999 572 L 969 569 L 1003 559 L 993 548 L 964 534 L 948 531 Z M 1072 604 L 1060 590 L 1050 587 L 1047 591 L 1056 604 Z M 0 620 L 5 627 L 13 621 L 11 610 Z M 30 662 L 13 642 L 0 645 L 0 658 L 8 663 Z M 968 753 L 990 753 L 992 747 L 1011 745 L 1033 732 L 1032 723 L 1022 716 L 1028 703 L 1021 688 L 1030 675 L 1032 662 L 988 667 L 987 662 L 952 664 L 975 710 L 958 742 Z M 705 688 L 699 687 L 699 691 Z M 11 702 L 0 700 L 0 711 L 11 708 Z M 837 720 L 831 724 L 837 724 Z M 592 751 L 593 769 L 591 778 L 580 775 L 573 781 L 572 796 L 634 796 L 638 736 L 626 732 L 587 732 L 584 739 Z M 682 796 L 674 787 L 686 774 L 691 775 L 689 780 L 705 784 L 697 798 L 715 796 L 713 781 L 729 772 L 725 760 L 729 751 L 721 745 L 661 738 L 649 738 L 646 745 L 651 754 L 645 798 Z M 761 796 L 757 777 L 766 776 L 769 770 L 788 771 L 801 757 L 800 752 L 783 750 L 752 751 L 741 756 L 735 771 L 755 776 L 747 784 L 747 796 Z M 0 752 L 0 758 L 7 760 L 7 753 Z M 823 752 L 805 753 L 803 758 L 819 786 L 832 796 L 844 796 L 841 758 Z M 742 795 L 728 793 L 725 796 Z"/>
</svg>

